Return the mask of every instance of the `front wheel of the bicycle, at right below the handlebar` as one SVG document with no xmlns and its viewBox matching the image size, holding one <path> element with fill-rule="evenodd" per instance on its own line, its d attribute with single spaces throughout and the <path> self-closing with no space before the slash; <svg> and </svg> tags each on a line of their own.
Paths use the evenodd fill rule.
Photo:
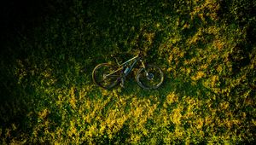
<svg viewBox="0 0 256 145">
<path fill-rule="evenodd" d="M 146 68 L 140 68 L 137 71 L 136 81 L 143 89 L 157 89 L 164 81 L 164 73 L 160 67 L 148 65 Z"/>
</svg>

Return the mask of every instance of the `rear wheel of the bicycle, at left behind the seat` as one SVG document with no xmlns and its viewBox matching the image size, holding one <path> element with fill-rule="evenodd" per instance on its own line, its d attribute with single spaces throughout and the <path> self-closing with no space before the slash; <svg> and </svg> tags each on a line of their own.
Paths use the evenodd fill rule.
<svg viewBox="0 0 256 145">
<path fill-rule="evenodd" d="M 119 83 L 119 72 L 115 72 L 116 67 L 108 63 L 97 65 L 92 71 L 92 79 L 95 84 L 103 89 L 111 89 Z"/>
</svg>

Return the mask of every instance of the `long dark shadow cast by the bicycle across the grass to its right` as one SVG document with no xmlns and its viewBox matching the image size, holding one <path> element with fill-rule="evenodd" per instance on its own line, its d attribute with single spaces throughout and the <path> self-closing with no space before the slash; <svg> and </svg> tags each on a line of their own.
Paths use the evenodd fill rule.
<svg viewBox="0 0 256 145">
<path fill-rule="evenodd" d="M 157 90 L 145 90 L 135 79 L 128 78 L 125 82 L 125 88 L 119 93 L 120 96 L 137 96 L 141 98 L 158 97 L 160 102 L 166 101 L 166 96 L 174 92 L 179 96 L 179 100 L 186 96 L 193 96 L 198 99 L 207 99 L 207 88 L 201 83 L 193 84 L 190 80 L 184 78 L 165 77 L 163 84 Z"/>
</svg>

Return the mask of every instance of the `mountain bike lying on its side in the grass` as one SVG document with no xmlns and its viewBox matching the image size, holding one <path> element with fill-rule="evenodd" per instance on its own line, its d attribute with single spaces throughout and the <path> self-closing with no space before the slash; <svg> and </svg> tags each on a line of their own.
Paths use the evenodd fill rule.
<svg viewBox="0 0 256 145">
<path fill-rule="evenodd" d="M 140 61 L 142 65 L 136 73 L 136 81 L 140 87 L 146 90 L 154 90 L 159 88 L 164 81 L 164 73 L 160 67 L 152 64 L 145 64 L 143 56 L 140 53 L 121 64 L 119 64 L 116 57 L 114 58 L 117 65 L 101 63 L 92 71 L 92 79 L 94 83 L 105 90 L 112 89 L 117 84 L 124 87 L 125 77 L 131 73 L 131 70 L 135 67 L 135 64 L 137 64 L 138 61 Z M 131 64 L 128 65 L 129 63 Z"/>
</svg>

